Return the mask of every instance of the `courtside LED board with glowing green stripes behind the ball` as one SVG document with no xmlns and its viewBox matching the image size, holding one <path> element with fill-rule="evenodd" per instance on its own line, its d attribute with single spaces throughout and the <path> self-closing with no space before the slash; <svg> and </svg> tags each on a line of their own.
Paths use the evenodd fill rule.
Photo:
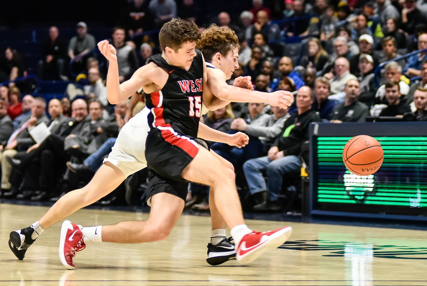
<svg viewBox="0 0 427 286">
<path fill-rule="evenodd" d="M 310 215 L 427 220 L 427 123 L 310 127 Z M 373 175 L 354 175 L 342 162 L 345 143 L 362 134 L 383 146 Z"/>
</svg>

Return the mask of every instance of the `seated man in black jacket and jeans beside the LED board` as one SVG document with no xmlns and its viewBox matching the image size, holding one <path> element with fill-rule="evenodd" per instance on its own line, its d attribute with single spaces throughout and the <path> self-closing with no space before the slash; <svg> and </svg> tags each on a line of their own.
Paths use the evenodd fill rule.
<svg viewBox="0 0 427 286">
<path fill-rule="evenodd" d="M 278 211 L 283 201 L 280 199 L 282 178 L 284 174 L 299 172 L 301 161 L 298 155 L 301 153 L 301 145 L 308 140 L 309 125 L 312 122 L 320 122 L 316 111 L 311 109 L 313 93 L 307 86 L 298 90 L 296 96 L 295 112 L 286 120 L 282 132 L 277 137 L 268 155 L 251 159 L 243 164 L 249 191 L 257 201 L 254 210 Z M 263 171 L 267 172 L 268 184 L 263 178 Z"/>
</svg>

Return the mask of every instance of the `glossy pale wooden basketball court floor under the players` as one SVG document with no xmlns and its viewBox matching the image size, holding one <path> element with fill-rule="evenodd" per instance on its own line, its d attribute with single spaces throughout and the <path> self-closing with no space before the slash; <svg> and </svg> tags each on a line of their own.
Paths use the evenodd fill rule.
<svg viewBox="0 0 427 286">
<path fill-rule="evenodd" d="M 206 263 L 210 218 L 184 215 L 161 242 L 95 242 L 78 252 L 75 270 L 58 258 L 61 223 L 45 231 L 19 261 L 9 232 L 32 224 L 47 207 L 0 204 L 0 286 L 151 285 L 427 285 L 425 231 L 248 220 L 264 231 L 291 225 L 291 239 L 249 265 Z M 79 210 L 83 226 L 145 220 L 148 213 Z M 124 234 L 125 235 L 125 234 Z"/>
</svg>

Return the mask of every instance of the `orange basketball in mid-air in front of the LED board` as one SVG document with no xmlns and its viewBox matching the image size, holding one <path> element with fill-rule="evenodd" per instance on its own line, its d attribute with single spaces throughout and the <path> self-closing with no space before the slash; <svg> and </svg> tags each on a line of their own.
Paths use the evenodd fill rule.
<svg viewBox="0 0 427 286">
<path fill-rule="evenodd" d="M 384 152 L 381 144 L 368 135 L 359 135 L 348 140 L 342 151 L 345 167 L 355 175 L 372 175 L 380 169 Z"/>
</svg>

